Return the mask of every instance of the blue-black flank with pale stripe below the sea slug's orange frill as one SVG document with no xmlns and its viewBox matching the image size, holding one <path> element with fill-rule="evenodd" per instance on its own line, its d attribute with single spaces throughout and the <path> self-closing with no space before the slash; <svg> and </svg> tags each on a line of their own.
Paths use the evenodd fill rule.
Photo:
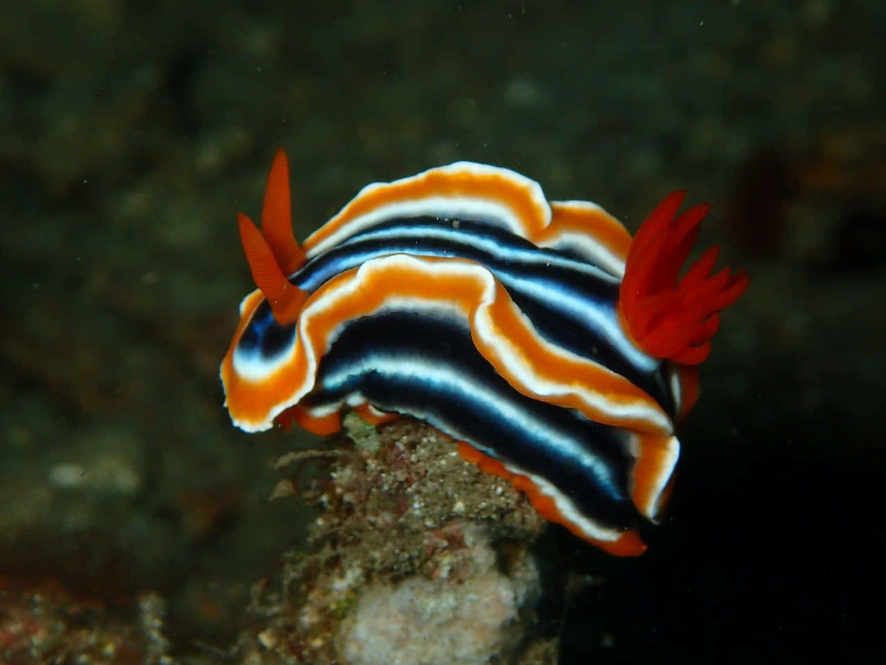
<svg viewBox="0 0 886 665">
<path fill-rule="evenodd" d="M 630 497 L 630 434 L 518 393 L 455 316 L 385 310 L 348 322 L 301 403 L 334 406 L 354 393 L 546 479 L 603 527 L 644 520 Z"/>
</svg>

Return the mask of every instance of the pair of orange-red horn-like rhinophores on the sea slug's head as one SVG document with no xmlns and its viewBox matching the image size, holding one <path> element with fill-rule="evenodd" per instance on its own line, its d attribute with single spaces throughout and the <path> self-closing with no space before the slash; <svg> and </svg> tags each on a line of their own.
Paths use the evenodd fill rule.
<svg viewBox="0 0 886 665">
<path fill-rule="evenodd" d="M 295 323 L 307 293 L 292 286 L 288 275 L 305 262 L 305 253 L 292 235 L 289 193 L 289 164 L 286 155 L 278 150 L 261 208 L 261 228 L 243 213 L 237 214 L 240 240 L 255 286 L 270 305 L 280 325 Z"/>
</svg>

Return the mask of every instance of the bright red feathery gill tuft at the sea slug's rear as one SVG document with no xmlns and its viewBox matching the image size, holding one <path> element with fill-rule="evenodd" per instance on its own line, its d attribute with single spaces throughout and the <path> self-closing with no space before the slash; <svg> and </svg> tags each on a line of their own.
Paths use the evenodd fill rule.
<svg viewBox="0 0 886 665">
<path fill-rule="evenodd" d="M 711 352 L 719 328 L 718 312 L 741 297 L 749 278 L 711 275 L 719 246 L 712 246 L 679 278 L 680 269 L 710 206 L 689 208 L 675 217 L 686 192 L 672 192 L 658 204 L 634 236 L 625 278 L 618 292 L 618 313 L 633 342 L 650 356 L 699 364 Z"/>
</svg>

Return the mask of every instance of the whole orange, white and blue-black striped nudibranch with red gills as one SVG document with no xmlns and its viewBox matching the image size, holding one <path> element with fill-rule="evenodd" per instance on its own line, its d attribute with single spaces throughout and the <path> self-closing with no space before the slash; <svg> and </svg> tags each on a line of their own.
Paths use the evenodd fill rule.
<svg viewBox="0 0 886 665">
<path fill-rule="evenodd" d="M 268 177 L 261 229 L 240 214 L 258 288 L 221 363 L 246 432 L 331 434 L 348 407 L 408 415 L 506 477 L 548 520 L 639 554 L 680 454 L 675 424 L 719 311 L 748 285 L 682 276 L 707 206 L 666 197 L 630 233 L 587 201 L 548 201 L 507 168 L 459 161 L 369 184 L 301 246 L 289 167 Z"/>
</svg>

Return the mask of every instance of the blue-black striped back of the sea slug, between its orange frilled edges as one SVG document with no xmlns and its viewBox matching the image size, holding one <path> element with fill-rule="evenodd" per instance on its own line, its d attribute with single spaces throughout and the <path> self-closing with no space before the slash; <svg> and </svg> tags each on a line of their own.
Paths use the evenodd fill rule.
<svg viewBox="0 0 886 665">
<path fill-rule="evenodd" d="M 392 219 L 316 256 L 290 281 L 313 293 L 345 270 L 397 253 L 459 257 L 486 266 L 542 337 L 624 376 L 674 417 L 677 405 L 670 365 L 650 360 L 621 336 L 616 313 L 618 279 L 571 254 L 534 246 L 489 223 L 434 217 Z M 268 305 L 262 303 L 239 348 L 260 349 L 263 356 L 273 356 L 288 347 L 293 334 L 294 328 L 276 326 Z"/>
</svg>

